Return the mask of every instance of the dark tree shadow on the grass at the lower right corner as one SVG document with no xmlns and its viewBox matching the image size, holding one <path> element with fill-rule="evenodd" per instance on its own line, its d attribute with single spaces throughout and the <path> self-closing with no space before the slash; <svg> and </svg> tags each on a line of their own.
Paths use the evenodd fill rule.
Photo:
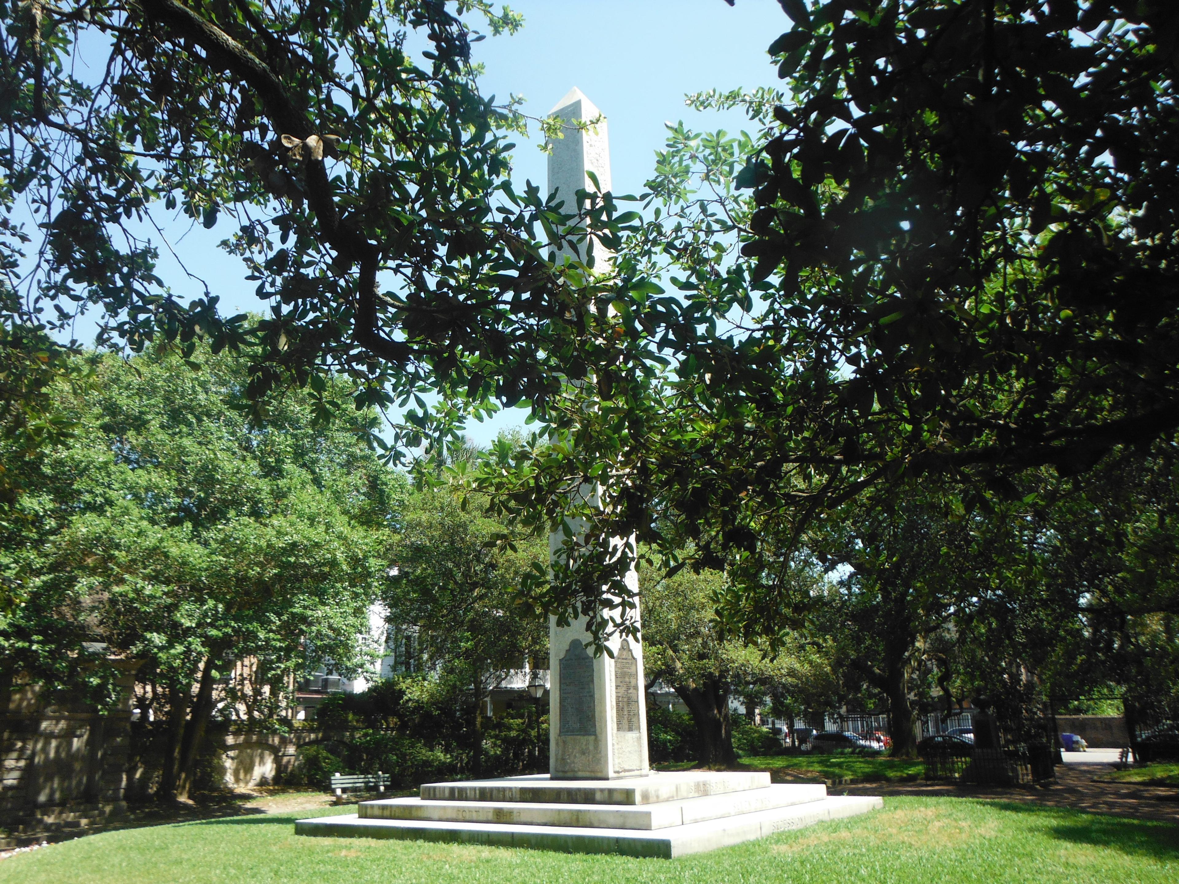
<svg viewBox="0 0 1179 884">
<path fill-rule="evenodd" d="M 992 807 L 1027 817 L 1029 829 L 1040 829 L 1059 840 L 1113 847 L 1122 853 L 1179 862 L 1179 826 L 1147 819 L 1128 819 L 1063 807 L 1016 801 L 988 801 Z M 1039 817 L 1039 819 L 1036 819 Z"/>
</svg>

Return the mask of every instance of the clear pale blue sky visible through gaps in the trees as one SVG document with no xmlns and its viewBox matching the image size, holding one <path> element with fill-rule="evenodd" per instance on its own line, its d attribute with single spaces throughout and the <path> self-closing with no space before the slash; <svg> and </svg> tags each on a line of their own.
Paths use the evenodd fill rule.
<svg viewBox="0 0 1179 884">
<path fill-rule="evenodd" d="M 523 95 L 523 111 L 541 117 L 578 86 L 610 120 L 615 193 L 641 192 L 664 144 L 665 123 L 743 127 L 739 114 L 685 107 L 685 94 L 779 85 L 765 48 L 790 21 L 776 0 L 737 0 L 736 7 L 723 0 L 514 0 L 509 6 L 523 14 L 523 29 L 474 47 L 475 60 L 486 67 L 483 94 Z M 544 184 L 545 166 L 536 143 L 520 141 L 513 165 L 518 186 L 527 179 Z M 226 232 L 223 225 L 206 231 L 186 222 L 165 226 L 177 257 L 162 244 L 159 275 L 180 298 L 203 295 L 204 285 L 185 273 L 183 262 L 220 296 L 226 312 L 261 310 L 242 264 L 217 248 Z M 93 323 L 79 322 L 74 334 L 92 339 Z M 487 443 L 500 429 L 522 424 L 525 415 L 501 413 L 473 424 L 469 435 Z"/>
</svg>

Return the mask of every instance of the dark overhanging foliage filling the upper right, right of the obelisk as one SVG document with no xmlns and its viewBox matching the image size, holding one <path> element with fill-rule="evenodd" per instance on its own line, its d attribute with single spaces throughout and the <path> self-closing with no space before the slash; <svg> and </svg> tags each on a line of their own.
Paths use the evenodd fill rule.
<svg viewBox="0 0 1179 884">
<path fill-rule="evenodd" d="M 868 489 L 948 482 L 970 510 L 1173 434 L 1179 7 L 782 5 L 789 95 L 700 98 L 765 128 L 673 128 L 664 213 L 617 262 L 679 290 L 618 309 L 668 368 L 602 370 L 568 441 L 505 453 L 505 507 L 613 476 L 602 536 L 722 567 Z M 762 632 L 780 601 L 730 614 Z"/>
</svg>

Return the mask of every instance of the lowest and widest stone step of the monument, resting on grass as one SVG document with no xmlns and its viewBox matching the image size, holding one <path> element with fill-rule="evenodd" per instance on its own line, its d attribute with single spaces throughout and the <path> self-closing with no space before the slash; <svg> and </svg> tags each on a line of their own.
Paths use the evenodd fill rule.
<svg viewBox="0 0 1179 884">
<path fill-rule="evenodd" d="M 633 857 L 678 857 L 764 838 L 831 819 L 867 813 L 883 806 L 880 798 L 828 797 L 788 807 L 742 813 L 654 831 L 536 826 L 502 823 L 444 823 L 429 819 L 364 819 L 356 814 L 301 819 L 295 833 L 343 838 L 401 838 L 457 842 L 502 847 L 558 850 L 567 853 L 623 853 Z"/>
</svg>

